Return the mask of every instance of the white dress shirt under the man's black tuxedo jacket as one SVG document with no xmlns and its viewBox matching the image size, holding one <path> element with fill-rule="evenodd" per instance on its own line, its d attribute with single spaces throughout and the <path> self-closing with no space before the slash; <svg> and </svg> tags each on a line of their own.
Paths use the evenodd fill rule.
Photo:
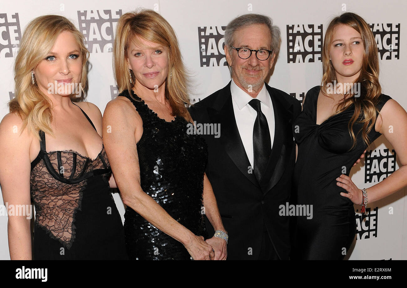
<svg viewBox="0 0 407 288">
<path fill-rule="evenodd" d="M 243 142 L 243 146 L 245 147 L 249 162 L 252 167 L 255 168 L 253 153 L 253 127 L 254 121 L 257 117 L 257 112 L 252 108 L 252 106 L 249 105 L 249 102 L 253 99 L 258 99 L 261 102 L 261 111 L 266 116 L 267 123 L 269 124 L 271 147 L 273 147 L 275 129 L 273 104 L 271 103 L 271 98 L 265 84 L 263 84 L 263 88 L 257 94 L 256 98 L 253 98 L 239 86 L 237 86 L 232 79 L 232 83 L 230 84 L 230 92 L 232 93 L 234 117 L 236 119 L 240 138 Z"/>
</svg>

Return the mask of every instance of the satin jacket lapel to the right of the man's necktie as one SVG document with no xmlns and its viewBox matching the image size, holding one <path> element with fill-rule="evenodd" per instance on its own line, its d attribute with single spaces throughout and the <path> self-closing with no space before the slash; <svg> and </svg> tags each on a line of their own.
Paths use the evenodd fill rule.
<svg viewBox="0 0 407 288">
<path fill-rule="evenodd" d="M 277 98 L 278 96 L 273 95 L 271 89 L 269 89 L 269 87 L 267 88 L 271 97 L 271 103 L 273 104 L 275 129 L 269 162 L 260 181 L 260 188 L 263 193 L 269 192 L 270 189 L 276 185 L 278 180 L 280 180 L 286 167 L 286 159 L 289 156 L 287 143 L 291 141 L 293 137 L 289 111 L 282 105 Z"/>
</svg>

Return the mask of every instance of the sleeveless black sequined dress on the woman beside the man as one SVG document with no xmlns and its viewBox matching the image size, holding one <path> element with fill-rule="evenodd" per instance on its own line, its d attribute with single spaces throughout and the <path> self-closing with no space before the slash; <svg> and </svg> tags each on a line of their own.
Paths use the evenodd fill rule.
<svg viewBox="0 0 407 288">
<path fill-rule="evenodd" d="M 128 98 L 143 121 L 137 143 L 142 190 L 192 231 L 206 235 L 203 208 L 204 172 L 208 159 L 205 140 L 187 133 L 188 122 L 176 117 L 166 122 L 128 90 Z M 134 100 L 136 99 L 136 100 Z M 130 260 L 189 260 L 184 245 L 157 229 L 130 207 L 125 212 L 125 238 Z"/>
</svg>

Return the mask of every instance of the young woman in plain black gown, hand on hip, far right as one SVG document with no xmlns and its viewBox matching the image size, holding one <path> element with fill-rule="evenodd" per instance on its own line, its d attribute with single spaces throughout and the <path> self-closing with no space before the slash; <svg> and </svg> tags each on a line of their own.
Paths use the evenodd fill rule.
<svg viewBox="0 0 407 288">
<path fill-rule="evenodd" d="M 368 201 L 400 190 L 407 177 L 407 113 L 381 93 L 376 41 L 368 24 L 354 13 L 335 17 L 326 31 L 322 63 L 322 84 L 307 92 L 302 113 L 293 123 L 297 202 L 313 205 L 311 219 L 297 218 L 293 259 L 344 258 L 356 232 L 353 205 L 363 200 L 350 169 L 381 134 L 403 166 L 368 188 Z M 360 83 L 360 89 L 341 91 L 344 83 Z M 397 133 L 389 131 L 390 125 Z"/>
</svg>

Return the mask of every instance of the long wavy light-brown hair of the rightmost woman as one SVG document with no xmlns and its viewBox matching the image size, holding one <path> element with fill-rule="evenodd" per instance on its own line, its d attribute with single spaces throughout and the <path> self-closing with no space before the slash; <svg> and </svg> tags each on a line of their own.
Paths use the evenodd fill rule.
<svg viewBox="0 0 407 288">
<path fill-rule="evenodd" d="M 379 56 L 373 33 L 362 17 L 355 13 L 347 12 L 333 18 L 326 29 L 324 45 L 322 48 L 323 76 L 321 81 L 321 91 L 324 95 L 328 96 L 326 91 L 328 83 L 333 83 L 333 81 L 336 80 L 335 68 L 329 60 L 329 50 L 333 41 L 334 30 L 339 24 L 348 25 L 359 32 L 362 36 L 363 46 L 365 48 L 361 73 L 355 81 L 355 83 L 360 83 L 360 96 L 352 97 L 354 95 L 348 91 L 344 96 L 344 102 L 338 105 L 338 111 L 336 112 L 341 113 L 350 105 L 354 104 L 355 110 L 348 123 L 349 133 L 353 140 L 353 145 L 350 148 L 352 149 L 356 145 L 356 136 L 353 133 L 352 127 L 358 121 L 360 116 L 362 117 L 358 123 L 362 123 L 363 127 L 357 132 L 357 134 L 361 132 L 366 146 L 369 146 L 370 144 L 368 133 L 374 128 L 376 111 L 378 111 L 376 105 L 378 103 L 378 98 L 381 95 L 381 86 L 379 83 Z"/>
</svg>

